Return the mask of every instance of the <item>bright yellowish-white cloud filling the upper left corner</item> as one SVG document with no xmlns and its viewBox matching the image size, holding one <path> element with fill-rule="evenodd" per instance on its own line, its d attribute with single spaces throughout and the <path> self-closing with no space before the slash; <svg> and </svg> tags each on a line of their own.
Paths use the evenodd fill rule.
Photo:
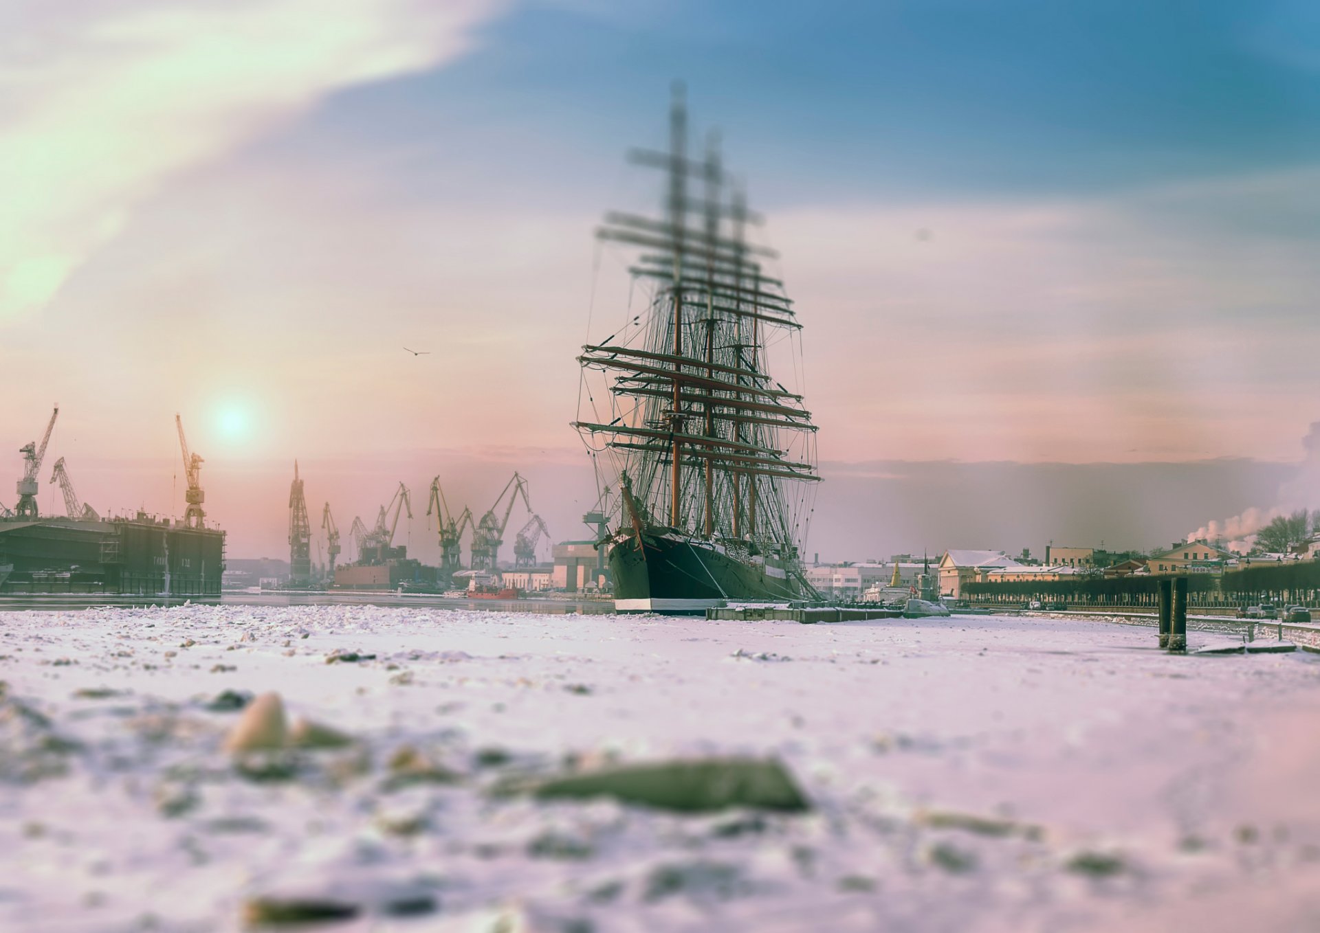
<svg viewBox="0 0 1320 933">
<path fill-rule="evenodd" d="M 492 0 L 20 0 L 0 38 L 0 325 L 168 181 L 338 88 L 463 51 Z"/>
</svg>

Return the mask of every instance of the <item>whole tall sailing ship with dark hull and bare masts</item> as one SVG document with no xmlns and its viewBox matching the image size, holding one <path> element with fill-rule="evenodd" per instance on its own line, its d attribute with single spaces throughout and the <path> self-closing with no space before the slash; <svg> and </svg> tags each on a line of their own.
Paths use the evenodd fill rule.
<svg viewBox="0 0 1320 933">
<path fill-rule="evenodd" d="M 818 598 L 800 560 L 820 480 L 816 425 L 784 384 L 803 371 L 801 323 L 766 268 L 776 253 L 748 238 L 762 219 L 714 136 L 689 154 L 681 88 L 668 152 L 630 161 L 661 172 L 663 212 L 610 212 L 597 236 L 627 256 L 645 307 L 582 347 L 573 422 L 605 487 L 597 548 L 615 607 Z"/>
</svg>

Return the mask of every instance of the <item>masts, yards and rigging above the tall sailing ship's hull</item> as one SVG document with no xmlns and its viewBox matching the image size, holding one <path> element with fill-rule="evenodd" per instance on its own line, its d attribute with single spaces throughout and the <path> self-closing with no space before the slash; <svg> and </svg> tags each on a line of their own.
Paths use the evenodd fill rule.
<svg viewBox="0 0 1320 933">
<path fill-rule="evenodd" d="M 620 483 L 627 478 L 635 524 L 787 553 L 795 525 L 783 483 L 820 479 L 809 453 L 791 457 L 791 439 L 816 425 L 803 397 L 768 375 L 760 343 L 801 325 L 783 282 L 762 267 L 776 253 L 744 238 L 760 218 L 727 185 L 714 136 L 705 149 L 688 154 L 686 107 L 676 88 L 667 149 L 630 153 L 664 172 L 660 218 L 610 212 L 597 231 L 636 249 L 628 271 L 655 282 L 649 313 L 640 327 L 632 326 L 639 315 L 582 347 L 583 379 L 591 371 L 607 379 L 610 414 L 589 389 L 591 409 L 573 424 L 605 441 L 593 449 L 609 450 Z M 587 410 L 595 417 L 582 417 Z"/>
</svg>

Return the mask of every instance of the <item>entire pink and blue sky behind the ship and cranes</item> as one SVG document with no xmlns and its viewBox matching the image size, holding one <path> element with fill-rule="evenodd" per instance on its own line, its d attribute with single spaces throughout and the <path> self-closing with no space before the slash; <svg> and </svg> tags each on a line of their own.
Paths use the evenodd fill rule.
<svg viewBox="0 0 1320 933">
<path fill-rule="evenodd" d="M 0 442 L 59 402 L 86 499 L 181 513 L 181 413 L 240 557 L 286 552 L 296 458 L 345 528 L 405 482 L 422 557 L 437 475 L 585 536 L 574 354 L 628 301 L 593 230 L 656 203 L 623 156 L 676 79 L 805 327 L 808 553 L 1320 505 L 1302 0 L 9 0 Z"/>
</svg>

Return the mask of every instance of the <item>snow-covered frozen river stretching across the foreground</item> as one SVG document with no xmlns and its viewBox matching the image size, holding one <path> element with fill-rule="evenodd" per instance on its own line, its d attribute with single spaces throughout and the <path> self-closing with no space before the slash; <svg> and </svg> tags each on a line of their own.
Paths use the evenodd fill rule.
<svg viewBox="0 0 1320 933">
<path fill-rule="evenodd" d="M 995 616 L 0 614 L 0 929 L 230 930 L 288 903 L 418 933 L 1320 928 L 1320 655 L 1154 643 Z M 346 744 L 228 754 L 271 692 Z M 810 809 L 491 793 L 731 755 L 783 763 Z"/>
</svg>

